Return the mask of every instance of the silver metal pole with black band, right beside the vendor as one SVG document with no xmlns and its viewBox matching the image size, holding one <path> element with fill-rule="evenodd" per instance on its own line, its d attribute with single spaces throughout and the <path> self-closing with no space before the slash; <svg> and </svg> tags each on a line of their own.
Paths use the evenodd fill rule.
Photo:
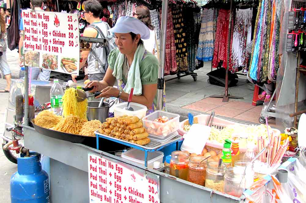
<svg viewBox="0 0 306 203">
<path fill-rule="evenodd" d="M 161 110 L 163 106 L 164 91 L 164 67 L 166 60 L 166 32 L 167 32 L 167 21 L 168 21 L 168 0 L 162 1 L 162 25 L 160 29 L 160 46 L 159 46 L 159 71 L 157 79 L 157 110 Z"/>
</svg>

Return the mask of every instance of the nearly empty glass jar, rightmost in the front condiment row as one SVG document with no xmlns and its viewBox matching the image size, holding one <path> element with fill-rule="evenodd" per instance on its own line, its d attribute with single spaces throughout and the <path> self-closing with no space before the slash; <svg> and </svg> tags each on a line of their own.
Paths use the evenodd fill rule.
<svg viewBox="0 0 306 203">
<path fill-rule="evenodd" d="M 226 169 L 224 176 L 224 192 L 235 197 L 241 197 L 245 190 L 245 173 L 237 167 Z"/>
</svg>

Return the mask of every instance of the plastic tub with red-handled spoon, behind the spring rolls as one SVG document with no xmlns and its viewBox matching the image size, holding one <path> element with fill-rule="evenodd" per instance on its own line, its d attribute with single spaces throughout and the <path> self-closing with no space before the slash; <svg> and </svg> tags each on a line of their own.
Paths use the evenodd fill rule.
<svg viewBox="0 0 306 203">
<path fill-rule="evenodd" d="M 139 119 L 142 119 L 144 116 L 146 116 L 148 110 L 146 106 L 131 102 L 130 106 L 134 109 L 134 111 L 128 111 L 124 109 L 127 104 L 128 102 L 123 102 L 114 105 L 114 116 L 137 116 Z"/>
</svg>

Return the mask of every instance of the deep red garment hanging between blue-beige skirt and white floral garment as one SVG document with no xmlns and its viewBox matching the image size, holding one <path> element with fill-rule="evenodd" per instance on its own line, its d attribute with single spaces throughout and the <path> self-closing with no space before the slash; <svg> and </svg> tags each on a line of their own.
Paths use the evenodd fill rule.
<svg viewBox="0 0 306 203">
<path fill-rule="evenodd" d="M 220 9 L 217 30 L 215 34 L 215 48 L 212 65 L 213 68 L 217 68 L 219 63 L 222 62 L 222 67 L 227 68 L 227 39 L 229 28 L 230 11 Z M 233 29 L 232 29 L 233 30 Z M 231 37 L 233 39 L 233 37 Z"/>
</svg>

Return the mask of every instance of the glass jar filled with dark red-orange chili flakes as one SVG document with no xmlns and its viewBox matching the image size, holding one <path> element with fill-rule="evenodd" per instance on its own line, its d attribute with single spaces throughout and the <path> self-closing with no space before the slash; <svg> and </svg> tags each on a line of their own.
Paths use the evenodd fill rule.
<svg viewBox="0 0 306 203">
<path fill-rule="evenodd" d="M 204 186 L 207 160 L 204 157 L 191 157 L 188 164 L 187 181 Z"/>
</svg>

